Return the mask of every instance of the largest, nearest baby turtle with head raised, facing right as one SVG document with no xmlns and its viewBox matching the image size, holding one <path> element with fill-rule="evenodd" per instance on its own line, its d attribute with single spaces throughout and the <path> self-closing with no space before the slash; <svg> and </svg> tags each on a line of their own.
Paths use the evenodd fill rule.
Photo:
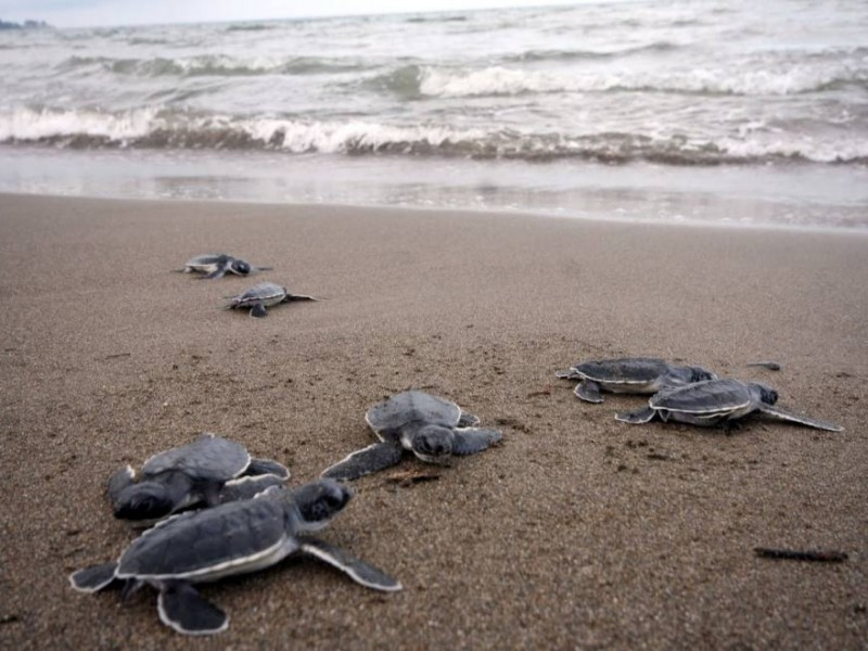
<svg viewBox="0 0 868 651">
<path fill-rule="evenodd" d="M 290 554 L 314 556 L 375 590 L 401 585 L 381 570 L 322 540 L 304 536 L 346 507 L 350 490 L 319 480 L 295 489 L 271 487 L 253 499 L 169 518 L 133 540 L 114 563 L 69 576 L 76 590 L 95 592 L 123 584 L 127 596 L 150 584 L 159 590 L 159 620 L 178 633 L 208 635 L 229 617 L 192 584 L 265 570 Z"/>
</svg>

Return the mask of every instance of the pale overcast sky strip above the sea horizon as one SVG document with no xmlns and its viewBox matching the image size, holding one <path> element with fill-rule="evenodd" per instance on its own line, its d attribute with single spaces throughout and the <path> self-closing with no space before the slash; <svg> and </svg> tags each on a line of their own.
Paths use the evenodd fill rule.
<svg viewBox="0 0 868 651">
<path fill-rule="evenodd" d="M 0 18 L 89 27 L 578 3 L 582 0 L 0 0 Z"/>
</svg>

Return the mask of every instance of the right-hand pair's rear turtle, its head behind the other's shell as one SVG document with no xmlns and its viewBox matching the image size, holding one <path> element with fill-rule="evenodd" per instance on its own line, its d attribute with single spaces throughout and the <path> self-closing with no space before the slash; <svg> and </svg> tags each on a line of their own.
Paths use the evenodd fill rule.
<svg viewBox="0 0 868 651">
<path fill-rule="evenodd" d="M 600 391 L 652 394 L 669 386 L 715 380 L 717 375 L 695 366 L 675 366 L 654 357 L 622 357 L 582 361 L 558 378 L 578 380 L 575 394 L 587 403 L 602 403 Z"/>
</svg>

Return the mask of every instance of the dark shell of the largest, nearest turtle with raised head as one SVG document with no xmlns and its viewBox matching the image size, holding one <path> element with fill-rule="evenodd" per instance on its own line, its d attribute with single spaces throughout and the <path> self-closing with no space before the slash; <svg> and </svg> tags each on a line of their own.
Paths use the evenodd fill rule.
<svg viewBox="0 0 868 651">
<path fill-rule="evenodd" d="M 267 567 L 291 551 L 284 510 L 255 498 L 170 518 L 132 541 L 117 577 L 195 582 Z"/>
</svg>

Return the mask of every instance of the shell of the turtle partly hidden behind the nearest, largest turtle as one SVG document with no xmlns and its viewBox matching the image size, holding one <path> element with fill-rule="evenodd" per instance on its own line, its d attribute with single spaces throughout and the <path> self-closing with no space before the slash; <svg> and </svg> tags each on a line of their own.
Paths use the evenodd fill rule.
<svg viewBox="0 0 868 651">
<path fill-rule="evenodd" d="M 153 476 L 176 470 L 197 480 L 226 482 L 244 472 L 250 462 L 244 446 L 204 434 L 189 445 L 154 455 L 142 465 L 142 473 Z"/>
</svg>

